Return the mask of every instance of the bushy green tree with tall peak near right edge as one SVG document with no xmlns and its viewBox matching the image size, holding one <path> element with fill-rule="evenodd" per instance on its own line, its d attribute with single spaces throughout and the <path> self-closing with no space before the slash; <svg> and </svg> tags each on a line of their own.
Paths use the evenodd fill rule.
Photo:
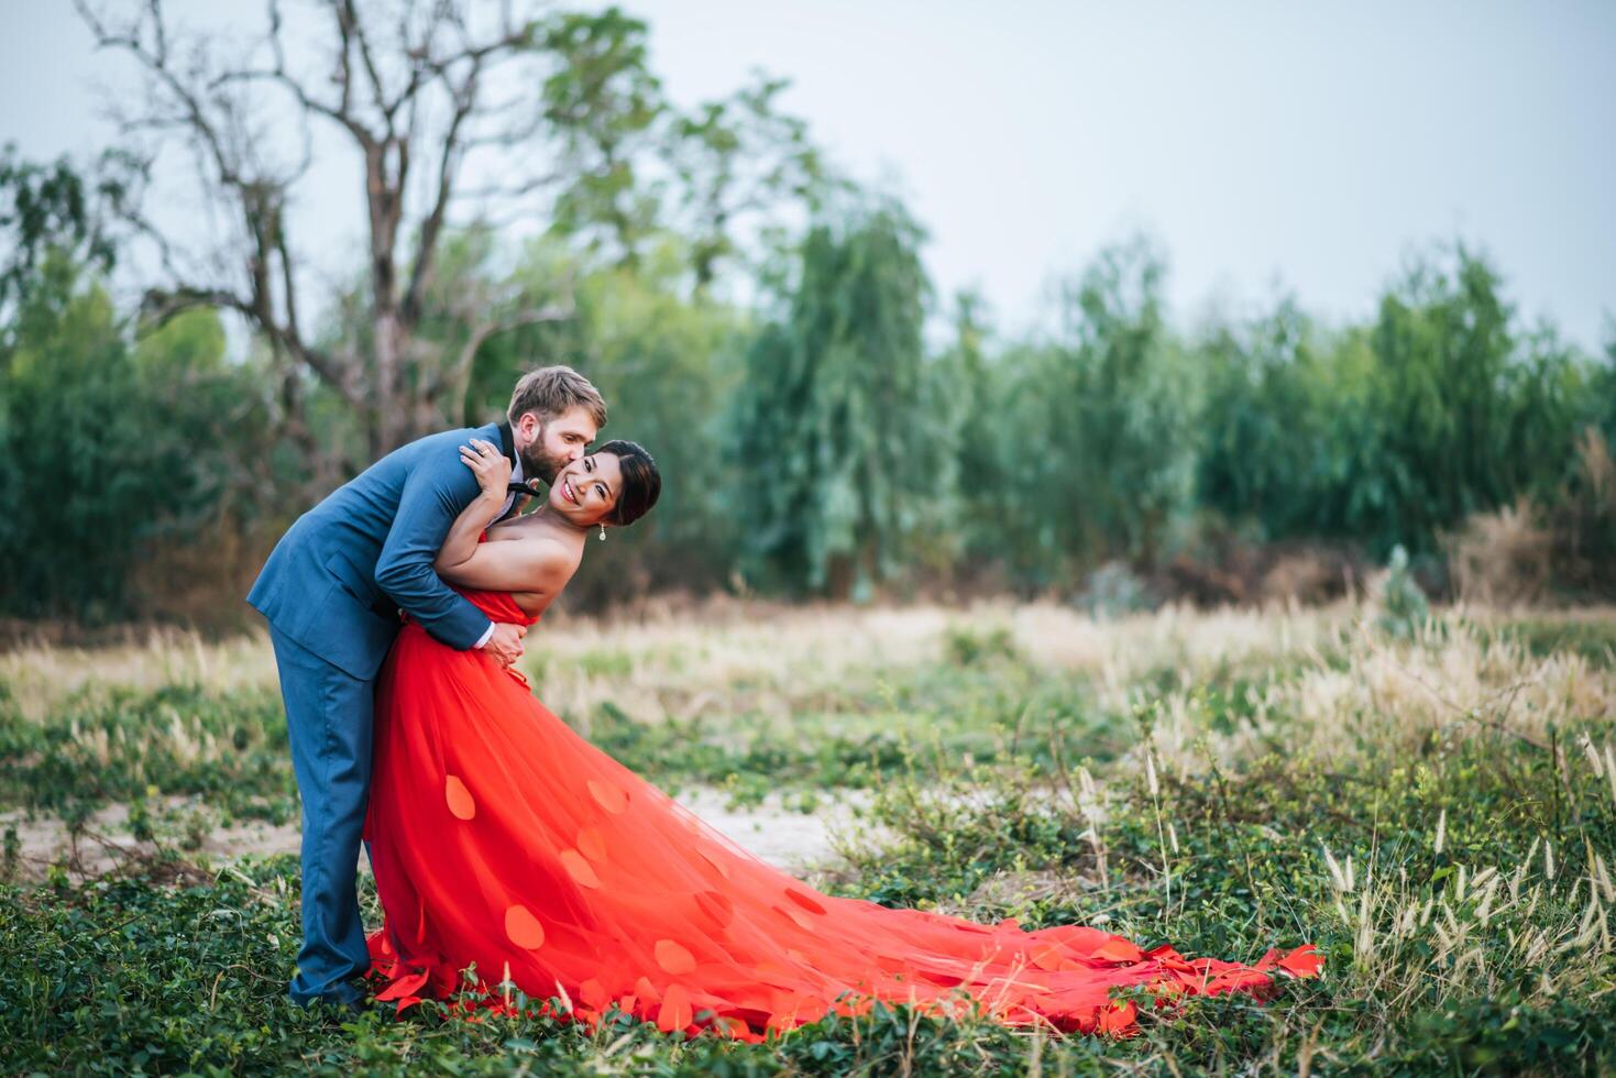
<svg viewBox="0 0 1616 1078">
<path fill-rule="evenodd" d="M 1445 528 L 1571 469 L 1584 362 L 1553 333 L 1519 335 L 1498 273 L 1462 244 L 1416 260 L 1332 367 L 1327 533 L 1433 553 Z"/>
</svg>

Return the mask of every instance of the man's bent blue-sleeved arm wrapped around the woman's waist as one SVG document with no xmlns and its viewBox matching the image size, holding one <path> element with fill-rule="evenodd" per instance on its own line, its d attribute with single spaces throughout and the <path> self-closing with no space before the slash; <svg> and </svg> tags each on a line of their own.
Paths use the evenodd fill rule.
<svg viewBox="0 0 1616 1078">
<path fill-rule="evenodd" d="M 454 485 L 462 475 L 467 472 L 454 456 L 441 465 L 433 462 L 410 470 L 393 528 L 377 559 L 377 587 L 433 637 L 467 651 L 488 640 L 493 622 L 440 580 L 431 567 L 449 525 L 459 516 L 461 498 Z"/>
</svg>

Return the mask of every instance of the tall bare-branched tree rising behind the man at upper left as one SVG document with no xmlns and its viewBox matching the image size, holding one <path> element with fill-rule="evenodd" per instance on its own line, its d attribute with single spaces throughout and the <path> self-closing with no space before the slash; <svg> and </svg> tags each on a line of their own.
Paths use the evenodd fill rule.
<svg viewBox="0 0 1616 1078">
<path fill-rule="evenodd" d="M 451 215 L 486 207 L 494 196 L 554 191 L 567 179 L 567 131 L 553 91 L 572 57 L 558 45 L 583 36 L 596 52 L 614 52 L 601 42 L 643 29 L 614 10 L 546 21 L 519 16 L 509 3 L 491 16 L 488 5 L 449 0 L 323 0 L 314 5 L 323 55 L 299 63 L 281 0 L 267 0 L 267 31 L 247 36 L 239 55 L 170 26 L 162 0 L 120 21 L 89 0 L 76 3 L 99 45 L 131 57 L 142 73 L 145 100 L 126 110 L 123 126 L 155 139 L 152 158 L 175 144 L 189 152 L 200 199 L 231 223 L 215 249 L 142 229 L 165 278 L 150 289 L 149 305 L 160 317 L 197 305 L 242 315 L 284 360 L 292 433 L 312 443 L 299 391 L 299 380 L 312 375 L 359 417 L 372 456 L 441 425 L 464 398 L 464 354 L 420 333 Z M 577 94 L 559 97 L 595 121 L 638 110 L 640 100 L 619 99 L 612 87 L 617 78 L 633 78 L 642 61 L 643 50 L 630 50 L 612 78 L 579 81 Z M 549 87 L 537 108 L 527 91 L 535 84 Z M 362 338 L 320 343 L 307 323 L 304 270 L 323 238 L 294 234 L 289 207 L 307 184 L 315 126 L 335 133 L 359 163 L 368 231 Z M 301 155 L 288 155 L 296 145 Z M 512 179 L 498 191 L 470 187 L 473 158 L 485 173 Z M 486 341 L 554 317 L 559 312 L 540 301 L 507 305 L 473 323 L 470 338 Z M 357 339 L 364 349 L 354 347 Z"/>
</svg>

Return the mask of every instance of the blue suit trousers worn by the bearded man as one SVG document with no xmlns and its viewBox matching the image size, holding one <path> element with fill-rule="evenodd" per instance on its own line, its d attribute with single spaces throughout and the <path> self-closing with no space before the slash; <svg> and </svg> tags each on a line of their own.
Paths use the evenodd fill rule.
<svg viewBox="0 0 1616 1078">
<path fill-rule="evenodd" d="M 289 994 L 344 1004 L 370 968 L 356 870 L 370 798 L 375 682 L 326 663 L 270 625 L 302 795 L 304 944 Z"/>
</svg>

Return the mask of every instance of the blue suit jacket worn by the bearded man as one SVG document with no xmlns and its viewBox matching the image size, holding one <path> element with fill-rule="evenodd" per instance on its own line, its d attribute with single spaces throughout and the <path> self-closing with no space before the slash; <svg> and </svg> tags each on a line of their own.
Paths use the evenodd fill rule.
<svg viewBox="0 0 1616 1078">
<path fill-rule="evenodd" d="M 452 592 L 433 561 L 449 525 L 477 498 L 461 464 L 467 438 L 504 444 L 499 425 L 446 430 L 394 449 L 297 517 L 275 545 L 247 601 L 278 630 L 370 680 L 399 630 L 398 609 L 451 648 L 467 650 L 488 617 Z"/>
</svg>

